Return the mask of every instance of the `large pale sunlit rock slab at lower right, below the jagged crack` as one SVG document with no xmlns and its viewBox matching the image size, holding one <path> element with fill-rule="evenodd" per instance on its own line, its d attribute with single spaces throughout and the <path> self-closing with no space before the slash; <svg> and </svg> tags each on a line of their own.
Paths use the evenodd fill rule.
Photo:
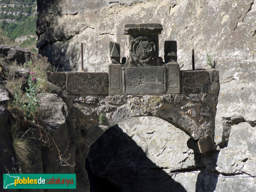
<svg viewBox="0 0 256 192">
<path fill-rule="evenodd" d="M 256 130 L 243 122 L 231 127 L 227 148 L 220 149 L 216 170 L 256 175 Z"/>
</svg>

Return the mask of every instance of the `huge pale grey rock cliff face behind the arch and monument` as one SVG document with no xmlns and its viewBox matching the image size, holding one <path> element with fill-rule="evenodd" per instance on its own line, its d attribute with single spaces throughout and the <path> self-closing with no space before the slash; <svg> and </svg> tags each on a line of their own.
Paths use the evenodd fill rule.
<svg viewBox="0 0 256 192">
<path fill-rule="evenodd" d="M 256 174 L 254 0 L 102 0 L 86 4 L 79 0 L 48 0 L 38 2 L 38 13 L 39 52 L 65 71 L 80 70 L 80 42 L 84 43 L 87 72 L 107 71 L 109 41 L 120 43 L 121 57 L 127 56 L 126 36 L 121 35 L 126 23 L 161 23 L 164 30 L 159 36 L 159 55 L 163 57 L 165 40 L 176 40 L 181 70 L 192 68 L 191 49 L 195 50 L 196 68 L 209 68 L 206 53 L 211 55 L 220 71 L 214 135 L 218 148 L 204 156 L 204 167 L 197 165 L 193 172 L 177 173 L 173 180 L 187 191 L 253 191 L 256 183 L 250 176 Z M 138 124 L 143 121 L 138 120 Z M 184 161 L 189 164 L 190 159 Z M 230 175 L 242 177 L 225 178 Z"/>
</svg>

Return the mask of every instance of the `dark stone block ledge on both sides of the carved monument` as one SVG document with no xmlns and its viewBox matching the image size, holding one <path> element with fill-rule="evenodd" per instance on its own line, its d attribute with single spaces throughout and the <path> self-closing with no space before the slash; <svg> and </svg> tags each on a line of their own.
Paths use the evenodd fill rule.
<svg viewBox="0 0 256 192">
<path fill-rule="evenodd" d="M 47 80 L 75 95 L 108 95 L 108 73 L 105 72 L 48 72 Z M 180 71 L 180 93 L 218 91 L 218 88 L 218 70 Z"/>
</svg>

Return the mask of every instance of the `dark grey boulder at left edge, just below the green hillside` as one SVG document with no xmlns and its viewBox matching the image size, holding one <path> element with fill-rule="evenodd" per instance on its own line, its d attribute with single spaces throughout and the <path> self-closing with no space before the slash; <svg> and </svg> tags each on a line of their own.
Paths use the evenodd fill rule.
<svg viewBox="0 0 256 192">
<path fill-rule="evenodd" d="M 26 63 L 31 60 L 32 52 L 29 49 L 0 45 L 0 55 L 3 55 L 8 61 L 15 61 L 17 63 Z"/>
</svg>

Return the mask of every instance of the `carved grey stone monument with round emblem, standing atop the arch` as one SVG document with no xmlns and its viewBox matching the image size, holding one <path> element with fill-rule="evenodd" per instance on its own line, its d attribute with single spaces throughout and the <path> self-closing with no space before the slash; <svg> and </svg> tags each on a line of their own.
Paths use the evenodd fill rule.
<svg viewBox="0 0 256 192">
<path fill-rule="evenodd" d="M 165 41 L 164 59 L 159 57 L 161 24 L 126 24 L 129 55 L 120 64 L 120 45 L 109 43 L 109 94 L 138 95 L 180 93 L 180 68 L 177 42 Z"/>
</svg>

